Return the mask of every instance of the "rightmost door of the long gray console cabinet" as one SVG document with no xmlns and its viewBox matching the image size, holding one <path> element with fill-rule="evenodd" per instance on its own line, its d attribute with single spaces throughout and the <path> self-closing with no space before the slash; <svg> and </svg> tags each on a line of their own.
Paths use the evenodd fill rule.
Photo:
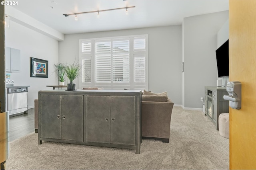
<svg viewBox="0 0 256 170">
<path fill-rule="evenodd" d="M 135 96 L 110 97 L 110 143 L 136 145 Z"/>
</svg>

